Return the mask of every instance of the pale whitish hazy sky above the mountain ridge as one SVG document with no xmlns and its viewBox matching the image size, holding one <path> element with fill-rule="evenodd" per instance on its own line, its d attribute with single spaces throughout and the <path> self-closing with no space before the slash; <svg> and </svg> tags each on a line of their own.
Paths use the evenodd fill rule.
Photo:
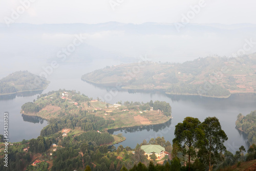
<svg viewBox="0 0 256 171">
<path fill-rule="evenodd" d="M 191 14 L 190 23 L 256 24 L 255 0 L 0 0 L 0 23 L 13 19 L 17 10 L 20 14 L 13 19 L 15 23 L 175 23 L 192 11 L 190 6 L 200 3 L 203 5 L 195 16 Z"/>
</svg>

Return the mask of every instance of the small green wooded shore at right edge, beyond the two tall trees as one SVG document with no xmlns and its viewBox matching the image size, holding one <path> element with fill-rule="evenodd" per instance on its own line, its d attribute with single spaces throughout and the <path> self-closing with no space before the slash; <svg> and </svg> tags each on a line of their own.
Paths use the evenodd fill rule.
<svg viewBox="0 0 256 171">
<path fill-rule="evenodd" d="M 256 144 L 256 111 L 243 116 L 239 114 L 236 121 L 236 127 L 247 135 L 250 144 Z"/>
</svg>

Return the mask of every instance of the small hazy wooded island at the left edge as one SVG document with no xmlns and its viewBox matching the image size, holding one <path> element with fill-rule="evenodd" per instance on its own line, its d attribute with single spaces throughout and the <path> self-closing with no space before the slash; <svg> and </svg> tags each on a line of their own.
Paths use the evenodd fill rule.
<svg viewBox="0 0 256 171">
<path fill-rule="evenodd" d="M 44 90 L 49 83 L 46 78 L 28 71 L 17 71 L 0 80 L 0 95 Z"/>
</svg>

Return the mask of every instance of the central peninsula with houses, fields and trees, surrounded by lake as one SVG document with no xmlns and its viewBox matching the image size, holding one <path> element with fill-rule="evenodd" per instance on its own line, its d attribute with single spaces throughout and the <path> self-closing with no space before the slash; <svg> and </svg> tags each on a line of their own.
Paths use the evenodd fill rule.
<svg viewBox="0 0 256 171">
<path fill-rule="evenodd" d="M 113 105 L 93 100 L 79 92 L 59 90 L 41 94 L 34 102 L 23 104 L 21 113 L 48 119 L 49 130 L 41 132 L 46 136 L 47 133 L 63 129 L 63 126 L 70 129 L 79 127 L 82 131 L 101 131 L 124 125 L 130 127 L 164 123 L 169 120 L 172 108 L 164 101 L 126 101 L 123 104 L 120 101 Z"/>
</svg>

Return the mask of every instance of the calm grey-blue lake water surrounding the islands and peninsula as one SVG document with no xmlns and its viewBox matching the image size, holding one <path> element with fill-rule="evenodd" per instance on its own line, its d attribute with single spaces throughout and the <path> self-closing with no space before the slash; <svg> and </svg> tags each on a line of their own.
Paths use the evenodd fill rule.
<svg viewBox="0 0 256 171">
<path fill-rule="evenodd" d="M 63 63 L 48 76 L 51 81 L 48 88 L 42 93 L 55 91 L 59 89 L 76 90 L 94 99 L 100 97 L 104 100 L 106 94 L 110 93 L 110 88 L 97 87 L 93 84 L 83 82 L 81 76 L 85 73 L 105 67 L 106 65 L 117 65 L 118 61 L 100 60 L 84 63 Z M 20 69 L 17 69 L 18 71 Z M 29 70 L 29 69 L 28 69 Z M 38 67 L 29 70 L 34 74 L 39 74 Z M 9 73 L 14 72 L 10 71 Z M 7 74 L 6 74 L 7 75 Z M 6 75 L 1 75 L 6 76 Z M 38 93 L 19 94 L 19 96 L 1 98 L 0 112 L 3 119 L 4 112 L 9 112 L 9 139 L 11 142 L 22 141 L 23 139 L 37 138 L 40 135 L 41 129 L 47 125 L 47 121 L 38 117 L 26 117 L 20 114 L 21 106 L 29 101 L 36 99 Z M 105 99 L 106 100 L 106 99 Z M 200 121 L 208 116 L 216 116 L 222 125 L 222 129 L 228 136 L 228 141 L 225 143 L 227 149 L 234 153 L 241 145 L 248 148 L 246 137 L 239 133 L 235 128 L 235 122 L 239 113 L 243 115 L 249 114 L 256 110 L 255 94 L 235 94 L 226 99 L 199 97 L 199 96 L 175 96 L 166 95 L 161 91 L 119 91 L 112 95 L 108 100 L 109 103 L 117 101 L 143 101 L 150 100 L 166 101 L 172 106 L 173 119 L 160 125 L 154 126 L 137 126 L 129 129 L 110 130 L 112 134 L 122 133 L 126 140 L 116 144 L 115 146 L 131 146 L 134 148 L 137 143 L 142 143 L 143 139 L 149 141 L 151 138 L 158 136 L 164 137 L 170 141 L 174 139 L 175 125 L 182 122 L 186 116 L 197 117 Z M 3 122 L 0 122 L 3 127 Z M 3 134 L 3 129 L 0 130 Z"/>
</svg>

